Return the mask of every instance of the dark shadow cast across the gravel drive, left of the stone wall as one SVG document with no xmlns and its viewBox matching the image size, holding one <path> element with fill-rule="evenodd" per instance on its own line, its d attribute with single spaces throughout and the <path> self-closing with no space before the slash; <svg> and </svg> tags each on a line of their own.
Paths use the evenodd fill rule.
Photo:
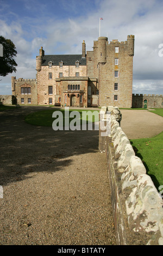
<svg viewBox="0 0 163 256">
<path fill-rule="evenodd" d="M 36 172 L 58 172 L 72 164 L 73 155 L 97 153 L 98 131 L 54 131 L 24 122 L 27 114 L 42 109 L 22 107 L 0 113 L 0 185 L 32 178 Z"/>
</svg>

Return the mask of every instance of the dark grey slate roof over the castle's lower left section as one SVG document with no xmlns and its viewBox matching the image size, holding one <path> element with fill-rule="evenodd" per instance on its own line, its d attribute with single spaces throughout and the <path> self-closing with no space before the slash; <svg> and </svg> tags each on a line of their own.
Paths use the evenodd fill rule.
<svg viewBox="0 0 163 256">
<path fill-rule="evenodd" d="M 59 66 L 59 62 L 63 62 L 65 66 L 75 66 L 77 60 L 80 65 L 86 66 L 86 58 L 82 58 L 82 54 L 45 55 L 42 66 L 48 66 L 48 62 L 52 62 L 53 66 Z"/>
</svg>

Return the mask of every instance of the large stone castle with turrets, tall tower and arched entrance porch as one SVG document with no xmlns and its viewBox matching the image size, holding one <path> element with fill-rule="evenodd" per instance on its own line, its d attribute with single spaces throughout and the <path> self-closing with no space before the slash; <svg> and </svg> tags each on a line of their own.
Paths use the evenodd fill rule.
<svg viewBox="0 0 163 256">
<path fill-rule="evenodd" d="M 12 77 L 17 103 L 73 107 L 132 106 L 134 35 L 119 42 L 101 36 L 82 54 L 36 56 L 36 79 Z"/>
</svg>

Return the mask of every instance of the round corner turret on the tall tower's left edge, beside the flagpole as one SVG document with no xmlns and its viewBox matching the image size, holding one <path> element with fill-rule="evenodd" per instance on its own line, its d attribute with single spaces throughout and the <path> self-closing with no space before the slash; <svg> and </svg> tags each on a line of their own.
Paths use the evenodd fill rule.
<svg viewBox="0 0 163 256">
<path fill-rule="evenodd" d="M 106 44 L 108 38 L 100 36 L 98 38 L 98 63 L 106 63 Z"/>
</svg>

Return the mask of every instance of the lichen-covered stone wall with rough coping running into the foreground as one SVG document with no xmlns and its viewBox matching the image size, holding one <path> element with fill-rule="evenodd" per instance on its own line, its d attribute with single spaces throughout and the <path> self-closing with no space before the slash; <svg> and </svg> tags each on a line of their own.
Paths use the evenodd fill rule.
<svg viewBox="0 0 163 256">
<path fill-rule="evenodd" d="M 117 245 L 163 245 L 161 195 L 121 129 L 119 109 L 102 108 L 100 121 L 107 127 L 108 111 L 111 132 L 103 136 L 99 124 L 99 151 L 106 154 Z"/>
</svg>

